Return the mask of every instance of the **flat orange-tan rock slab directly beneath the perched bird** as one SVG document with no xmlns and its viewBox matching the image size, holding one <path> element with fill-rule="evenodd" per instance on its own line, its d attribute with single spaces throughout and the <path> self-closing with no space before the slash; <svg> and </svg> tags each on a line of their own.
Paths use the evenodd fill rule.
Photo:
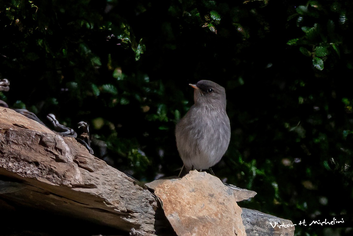
<svg viewBox="0 0 353 236">
<path fill-rule="evenodd" d="M 237 196 L 219 178 L 190 171 L 181 179 L 146 185 L 161 199 L 164 213 L 178 235 L 246 235 Z"/>
</svg>

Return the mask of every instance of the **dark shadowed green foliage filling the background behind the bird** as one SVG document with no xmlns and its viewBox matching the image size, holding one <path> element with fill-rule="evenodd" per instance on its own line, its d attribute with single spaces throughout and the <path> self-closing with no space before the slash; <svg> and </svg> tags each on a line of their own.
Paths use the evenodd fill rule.
<svg viewBox="0 0 353 236">
<path fill-rule="evenodd" d="M 296 235 L 352 233 L 351 1 L 0 3 L 10 107 L 88 122 L 96 156 L 150 182 L 178 175 L 188 84 L 212 80 L 232 128 L 213 171 L 258 193 L 239 205 L 292 220 Z M 298 225 L 333 217 L 345 224 Z"/>
</svg>

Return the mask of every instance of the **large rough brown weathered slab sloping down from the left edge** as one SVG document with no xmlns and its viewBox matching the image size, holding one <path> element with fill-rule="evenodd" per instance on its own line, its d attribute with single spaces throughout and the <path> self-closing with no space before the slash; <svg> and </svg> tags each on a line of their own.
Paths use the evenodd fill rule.
<svg viewBox="0 0 353 236">
<path fill-rule="evenodd" d="M 155 198 L 73 138 L 0 108 L 0 175 L 22 189 L 2 198 L 113 228 L 155 233 Z M 4 188 L 5 189 L 5 188 Z"/>
</svg>

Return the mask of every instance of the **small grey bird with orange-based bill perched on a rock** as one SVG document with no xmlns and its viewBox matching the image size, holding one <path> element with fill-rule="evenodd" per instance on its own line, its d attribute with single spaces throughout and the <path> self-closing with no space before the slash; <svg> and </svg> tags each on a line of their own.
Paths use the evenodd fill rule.
<svg viewBox="0 0 353 236">
<path fill-rule="evenodd" d="M 208 169 L 221 160 L 231 139 L 226 91 L 209 80 L 189 85 L 195 104 L 175 127 L 177 148 L 186 171 Z"/>
</svg>

